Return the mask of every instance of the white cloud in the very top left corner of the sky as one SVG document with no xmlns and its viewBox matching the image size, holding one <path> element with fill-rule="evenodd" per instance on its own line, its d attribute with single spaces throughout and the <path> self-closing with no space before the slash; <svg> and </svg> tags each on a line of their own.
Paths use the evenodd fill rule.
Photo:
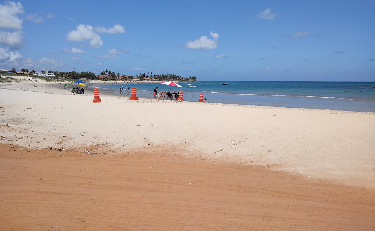
<svg viewBox="0 0 375 231">
<path fill-rule="evenodd" d="M 20 30 L 22 29 L 22 20 L 17 15 L 24 12 L 21 3 L 6 1 L 0 5 L 0 27 Z"/>
</svg>

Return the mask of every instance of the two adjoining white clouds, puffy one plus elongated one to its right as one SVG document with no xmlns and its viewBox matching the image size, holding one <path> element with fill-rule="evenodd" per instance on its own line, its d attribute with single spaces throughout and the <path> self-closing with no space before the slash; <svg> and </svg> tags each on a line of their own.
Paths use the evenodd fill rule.
<svg viewBox="0 0 375 231">
<path fill-rule="evenodd" d="M 97 26 L 94 28 L 90 25 L 79 24 L 77 26 L 77 30 L 72 30 L 68 33 L 66 40 L 76 42 L 89 40 L 92 47 L 99 48 L 103 45 L 103 41 L 99 33 L 125 33 L 125 29 L 120 24 L 115 24 L 113 27 L 108 29 L 102 26 Z"/>
</svg>

